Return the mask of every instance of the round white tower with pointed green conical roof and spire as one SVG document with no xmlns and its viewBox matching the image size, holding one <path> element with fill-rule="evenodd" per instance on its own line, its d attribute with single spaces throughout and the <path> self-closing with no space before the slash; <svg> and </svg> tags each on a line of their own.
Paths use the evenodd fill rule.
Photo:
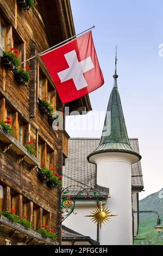
<svg viewBox="0 0 163 256">
<path fill-rule="evenodd" d="M 117 58 L 116 58 L 117 62 Z M 97 166 L 97 184 L 109 187 L 105 208 L 112 217 L 99 233 L 101 245 L 133 245 L 133 220 L 131 204 L 131 164 L 141 156 L 131 149 L 124 121 L 120 95 L 117 89 L 115 62 L 114 87 L 106 112 L 104 129 L 98 148 L 87 160 Z"/>
</svg>

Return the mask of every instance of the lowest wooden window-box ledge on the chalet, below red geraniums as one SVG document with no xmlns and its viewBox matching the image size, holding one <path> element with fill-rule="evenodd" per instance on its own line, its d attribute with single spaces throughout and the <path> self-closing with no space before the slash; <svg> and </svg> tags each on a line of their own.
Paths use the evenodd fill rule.
<svg viewBox="0 0 163 256">
<path fill-rule="evenodd" d="M 10 221 L 7 217 L 5 217 L 3 215 L 0 215 L 0 223 L 6 224 L 9 227 L 14 228 L 15 230 L 21 231 L 22 233 L 33 237 L 34 239 L 38 239 L 42 242 L 45 242 L 48 245 L 57 245 L 58 244 L 58 242 L 54 242 L 52 239 L 43 237 L 40 233 L 37 233 L 36 231 L 34 231 L 32 229 L 27 229 L 19 223 Z"/>
</svg>

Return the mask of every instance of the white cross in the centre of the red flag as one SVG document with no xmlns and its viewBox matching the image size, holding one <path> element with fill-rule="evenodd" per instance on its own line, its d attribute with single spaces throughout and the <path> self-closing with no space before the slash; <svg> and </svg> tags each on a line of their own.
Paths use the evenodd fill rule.
<svg viewBox="0 0 163 256">
<path fill-rule="evenodd" d="M 83 73 L 94 68 L 91 57 L 88 57 L 82 60 L 82 62 L 79 62 L 75 50 L 64 54 L 64 56 L 69 68 L 58 73 L 61 83 L 73 79 L 77 90 L 87 87 Z"/>
</svg>

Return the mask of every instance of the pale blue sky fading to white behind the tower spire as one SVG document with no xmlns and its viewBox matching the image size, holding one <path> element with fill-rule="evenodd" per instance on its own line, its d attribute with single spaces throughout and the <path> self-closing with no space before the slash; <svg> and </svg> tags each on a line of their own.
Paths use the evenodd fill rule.
<svg viewBox="0 0 163 256">
<path fill-rule="evenodd" d="M 129 137 L 138 137 L 145 192 L 163 187 L 163 2 L 161 0 L 71 0 L 76 33 L 92 31 L 105 84 L 93 93 L 93 111 L 106 111 L 117 45 L 118 89 Z M 92 113 L 87 117 L 91 120 Z M 86 117 L 67 120 L 79 122 Z M 104 116 L 96 119 L 103 126 Z M 102 129 L 102 127 L 101 127 Z M 76 129 L 77 130 L 77 129 Z M 73 131 L 71 137 L 100 137 L 101 130 Z"/>
</svg>

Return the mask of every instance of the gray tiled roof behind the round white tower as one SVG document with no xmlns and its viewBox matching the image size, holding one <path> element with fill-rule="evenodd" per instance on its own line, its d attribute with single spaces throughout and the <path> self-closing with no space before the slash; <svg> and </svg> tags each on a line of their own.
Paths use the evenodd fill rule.
<svg viewBox="0 0 163 256">
<path fill-rule="evenodd" d="M 93 150 L 99 145 L 99 138 L 70 138 L 68 144 L 68 158 L 65 161 L 63 174 L 89 185 L 90 187 L 96 186 L 96 166 L 89 163 L 86 159 Z M 139 153 L 139 142 L 137 138 L 129 139 L 130 146 L 136 153 Z M 77 181 L 67 179 L 64 177 L 64 187 L 70 185 L 80 185 Z M 132 164 L 131 166 L 131 179 L 133 189 L 142 190 L 143 179 L 141 162 Z M 86 187 L 82 185 L 83 187 Z"/>
</svg>

